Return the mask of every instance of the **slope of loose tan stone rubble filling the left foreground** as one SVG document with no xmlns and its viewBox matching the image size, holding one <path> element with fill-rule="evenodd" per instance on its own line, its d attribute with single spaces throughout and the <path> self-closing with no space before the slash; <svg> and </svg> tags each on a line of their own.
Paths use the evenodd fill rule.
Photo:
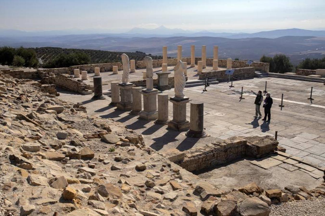
<svg viewBox="0 0 325 216">
<path fill-rule="evenodd" d="M 0 74 L 0 215 L 264 216 L 272 203 L 325 194 L 325 183 L 217 188 L 122 123 L 41 89 Z"/>
</svg>

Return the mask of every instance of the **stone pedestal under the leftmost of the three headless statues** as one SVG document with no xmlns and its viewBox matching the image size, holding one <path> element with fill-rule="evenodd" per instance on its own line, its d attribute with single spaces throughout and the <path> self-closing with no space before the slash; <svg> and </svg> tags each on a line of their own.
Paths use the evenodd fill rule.
<svg viewBox="0 0 325 216">
<path fill-rule="evenodd" d="M 132 83 L 119 83 L 121 100 L 117 103 L 117 109 L 130 111 L 132 110 L 132 88 L 135 86 Z"/>
</svg>

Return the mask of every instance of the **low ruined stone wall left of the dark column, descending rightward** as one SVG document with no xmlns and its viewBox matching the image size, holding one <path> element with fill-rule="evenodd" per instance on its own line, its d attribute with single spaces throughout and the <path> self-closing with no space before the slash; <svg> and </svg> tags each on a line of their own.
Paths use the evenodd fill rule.
<svg viewBox="0 0 325 216">
<path fill-rule="evenodd" d="M 75 79 L 70 78 L 68 74 L 59 74 L 53 77 L 44 77 L 41 80 L 43 84 L 55 84 L 59 88 L 63 88 L 69 91 L 78 92 L 80 94 L 89 94 L 92 93 L 91 90 L 93 87 L 87 85 L 84 82 L 77 81 Z"/>
</svg>

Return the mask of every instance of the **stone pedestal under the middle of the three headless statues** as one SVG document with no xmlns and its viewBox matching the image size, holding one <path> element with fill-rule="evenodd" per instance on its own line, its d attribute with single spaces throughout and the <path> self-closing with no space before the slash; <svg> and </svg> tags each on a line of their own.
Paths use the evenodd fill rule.
<svg viewBox="0 0 325 216">
<path fill-rule="evenodd" d="M 158 118 L 157 111 L 157 94 L 161 93 L 157 89 L 140 91 L 143 95 L 143 110 L 139 113 L 139 117 L 146 120 L 154 120 Z"/>
</svg>

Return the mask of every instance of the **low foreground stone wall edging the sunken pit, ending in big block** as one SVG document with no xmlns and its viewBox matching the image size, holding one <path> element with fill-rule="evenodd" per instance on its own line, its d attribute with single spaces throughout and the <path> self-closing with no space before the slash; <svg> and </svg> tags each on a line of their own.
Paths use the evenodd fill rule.
<svg viewBox="0 0 325 216">
<path fill-rule="evenodd" d="M 197 147 L 183 152 L 171 149 L 163 154 L 170 161 L 192 172 L 228 163 L 246 156 L 261 158 L 266 154 L 273 153 L 277 146 L 278 141 L 271 136 L 232 137 L 216 141 L 204 147 Z"/>
</svg>

